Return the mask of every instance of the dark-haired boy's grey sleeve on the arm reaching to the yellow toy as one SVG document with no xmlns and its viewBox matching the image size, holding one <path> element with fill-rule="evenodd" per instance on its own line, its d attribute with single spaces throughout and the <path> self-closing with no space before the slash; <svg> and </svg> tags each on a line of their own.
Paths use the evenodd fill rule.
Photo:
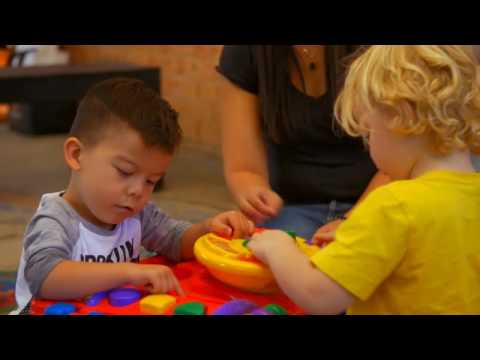
<svg viewBox="0 0 480 360">
<path fill-rule="evenodd" d="M 181 238 L 192 224 L 172 219 L 151 202 L 143 209 L 140 219 L 143 247 L 172 261 L 180 261 Z"/>
</svg>

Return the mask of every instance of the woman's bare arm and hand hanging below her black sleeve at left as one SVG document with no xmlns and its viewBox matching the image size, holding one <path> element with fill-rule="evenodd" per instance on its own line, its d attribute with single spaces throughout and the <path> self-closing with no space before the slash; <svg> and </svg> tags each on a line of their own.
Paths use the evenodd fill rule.
<svg viewBox="0 0 480 360">
<path fill-rule="evenodd" d="M 257 223 L 275 216 L 281 198 L 269 184 L 258 97 L 221 80 L 220 119 L 227 185 L 242 212 Z"/>
</svg>

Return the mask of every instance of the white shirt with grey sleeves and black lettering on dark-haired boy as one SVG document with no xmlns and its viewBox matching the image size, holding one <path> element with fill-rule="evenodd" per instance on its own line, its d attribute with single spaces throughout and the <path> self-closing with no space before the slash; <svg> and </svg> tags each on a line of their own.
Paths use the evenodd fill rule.
<svg viewBox="0 0 480 360">
<path fill-rule="evenodd" d="M 180 261 L 180 239 L 190 226 L 149 202 L 139 214 L 109 231 L 81 218 L 62 193 L 45 194 L 25 233 L 15 289 L 18 310 L 14 313 L 30 302 L 48 274 L 64 260 L 135 262 L 143 246 Z"/>
</svg>

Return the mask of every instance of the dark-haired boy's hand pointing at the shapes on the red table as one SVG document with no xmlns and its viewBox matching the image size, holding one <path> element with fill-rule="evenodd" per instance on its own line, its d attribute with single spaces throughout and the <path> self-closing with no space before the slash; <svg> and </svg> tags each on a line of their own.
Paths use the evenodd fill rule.
<svg viewBox="0 0 480 360">
<path fill-rule="evenodd" d="M 175 290 L 184 295 L 177 278 L 168 266 L 129 264 L 129 283 L 136 286 L 145 286 L 153 294 L 164 294 Z"/>
</svg>

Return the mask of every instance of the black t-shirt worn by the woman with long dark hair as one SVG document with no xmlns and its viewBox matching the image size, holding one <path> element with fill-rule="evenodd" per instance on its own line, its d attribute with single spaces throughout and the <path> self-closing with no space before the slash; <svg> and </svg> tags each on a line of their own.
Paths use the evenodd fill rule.
<svg viewBox="0 0 480 360">
<path fill-rule="evenodd" d="M 251 45 L 225 46 L 219 73 L 240 88 L 258 95 L 258 73 Z M 289 116 L 309 124 L 295 138 L 276 144 L 265 140 L 272 188 L 287 203 L 354 202 L 376 172 L 368 151 L 359 139 L 335 128 L 333 99 L 329 90 L 314 98 L 290 83 Z M 303 117 L 303 119 L 301 119 Z"/>
</svg>

